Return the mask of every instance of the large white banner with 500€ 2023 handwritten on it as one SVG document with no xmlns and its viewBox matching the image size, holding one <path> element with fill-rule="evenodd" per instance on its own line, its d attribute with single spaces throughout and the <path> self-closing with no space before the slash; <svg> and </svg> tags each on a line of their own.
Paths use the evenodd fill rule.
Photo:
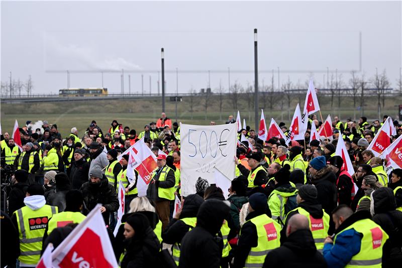
<svg viewBox="0 0 402 268">
<path fill-rule="evenodd" d="M 235 177 L 237 125 L 196 126 L 180 124 L 180 180 L 183 196 L 195 194 L 198 177 L 215 184 L 218 169 L 229 180 Z"/>
</svg>

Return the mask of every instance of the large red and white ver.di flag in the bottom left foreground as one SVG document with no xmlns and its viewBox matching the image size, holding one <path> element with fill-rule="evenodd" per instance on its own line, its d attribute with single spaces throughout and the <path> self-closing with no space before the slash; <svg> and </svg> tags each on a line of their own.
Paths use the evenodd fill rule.
<svg viewBox="0 0 402 268">
<path fill-rule="evenodd" d="M 118 267 L 100 207 L 97 204 L 53 251 L 54 267 Z"/>
</svg>

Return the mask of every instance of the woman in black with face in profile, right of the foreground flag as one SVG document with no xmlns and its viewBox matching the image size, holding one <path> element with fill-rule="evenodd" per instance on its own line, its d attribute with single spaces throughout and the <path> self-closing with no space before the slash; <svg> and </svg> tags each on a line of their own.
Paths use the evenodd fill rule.
<svg viewBox="0 0 402 268">
<path fill-rule="evenodd" d="M 119 266 L 126 268 L 141 263 L 143 267 L 160 267 L 161 263 L 156 256 L 161 244 L 147 217 L 138 212 L 132 213 L 123 228 L 125 254 Z"/>
</svg>

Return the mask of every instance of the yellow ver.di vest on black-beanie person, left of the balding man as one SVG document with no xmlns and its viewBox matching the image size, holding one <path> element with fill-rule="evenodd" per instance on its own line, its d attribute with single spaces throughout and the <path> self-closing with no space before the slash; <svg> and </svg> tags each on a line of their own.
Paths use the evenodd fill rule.
<svg viewBox="0 0 402 268">
<path fill-rule="evenodd" d="M 245 267 L 262 267 L 265 256 L 269 251 L 280 246 L 280 225 L 266 214 L 259 215 L 248 220 L 255 225 L 258 236 L 258 244 L 250 249 Z M 241 230 L 240 230 L 241 239 Z"/>
</svg>

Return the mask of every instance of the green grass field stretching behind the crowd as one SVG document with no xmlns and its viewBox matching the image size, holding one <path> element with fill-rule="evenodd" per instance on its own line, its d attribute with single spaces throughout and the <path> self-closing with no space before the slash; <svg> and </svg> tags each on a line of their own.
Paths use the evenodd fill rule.
<svg viewBox="0 0 402 268">
<path fill-rule="evenodd" d="M 189 97 L 184 97 L 183 102 L 177 105 L 178 121 L 187 124 L 195 125 L 209 125 L 211 121 L 217 124 L 224 124 L 229 115 L 236 118 L 237 110 L 240 110 L 240 115 L 246 119 L 247 125 L 254 128 L 254 108 L 248 108 L 248 103 L 244 99 L 240 99 L 238 109 L 233 109 L 231 100 L 224 100 L 222 113 L 220 112 L 220 105 L 218 96 L 213 96 L 209 100 L 207 110 L 207 119 L 205 113 L 205 99 L 202 97 L 194 97 L 193 106 L 191 109 Z M 302 102 L 304 105 L 305 97 L 295 98 L 287 109 L 280 109 L 280 100 L 277 100 L 270 110 L 267 106 L 264 108 L 264 115 L 266 123 L 269 124 L 270 118 L 273 117 L 277 123 L 280 121 L 289 124 L 294 108 L 297 102 Z M 166 114 L 172 121 L 175 121 L 175 105 L 168 101 L 166 98 Z M 390 98 L 385 101 L 385 107 L 381 114 L 387 114 L 396 117 L 398 114 L 397 105 L 402 103 L 400 97 Z M 334 106 L 336 106 L 336 102 Z M 260 101 L 261 108 L 263 107 Z M 341 108 L 334 107 L 331 109 L 328 99 L 320 98 L 320 107 L 324 120 L 330 113 L 332 116 L 339 116 L 342 121 L 348 117 L 358 119 L 360 111 L 353 109 L 353 103 L 350 99 L 342 99 Z M 191 113 L 191 110 L 193 112 Z M 367 101 L 364 108 L 364 116 L 370 120 L 378 118 L 376 100 L 371 98 Z M 95 120 L 102 128 L 108 131 L 112 120 L 116 119 L 124 126 L 129 126 L 137 130 L 137 133 L 143 131 L 144 126 L 160 117 L 161 104 L 160 99 L 153 98 L 147 100 L 112 100 L 112 101 L 69 101 L 69 102 L 54 102 L 54 103 L 34 103 L 34 104 L 2 104 L 1 111 L 1 125 L 2 131 L 12 132 L 14 121 L 17 119 L 20 127 L 25 126 L 27 120 L 36 122 L 37 120 L 47 120 L 50 124 L 57 124 L 59 132 L 63 137 L 68 136 L 70 129 L 76 127 L 79 135 L 82 136 L 92 120 Z M 319 114 L 318 114 L 319 116 Z M 258 116 L 259 119 L 260 115 Z M 382 116 L 381 116 L 382 117 Z M 242 122 L 243 123 L 243 122 Z"/>
</svg>

